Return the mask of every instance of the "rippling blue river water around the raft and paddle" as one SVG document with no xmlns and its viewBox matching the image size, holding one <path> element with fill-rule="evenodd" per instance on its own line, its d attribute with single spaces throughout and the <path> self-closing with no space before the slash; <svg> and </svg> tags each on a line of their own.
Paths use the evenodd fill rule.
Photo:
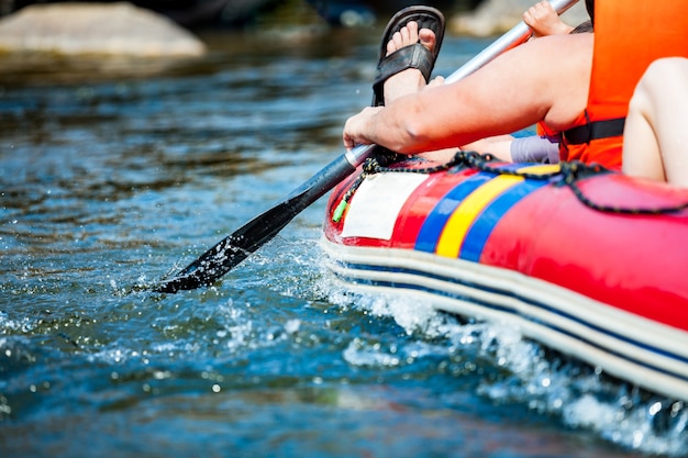
<svg viewBox="0 0 688 458">
<path fill-rule="evenodd" d="M 190 62 L 4 58 L 0 456 L 688 454 L 681 403 L 336 284 L 324 199 L 213 288 L 132 288 L 342 154 L 380 32 L 213 33 Z M 446 37 L 437 72 L 488 43 Z"/>
</svg>

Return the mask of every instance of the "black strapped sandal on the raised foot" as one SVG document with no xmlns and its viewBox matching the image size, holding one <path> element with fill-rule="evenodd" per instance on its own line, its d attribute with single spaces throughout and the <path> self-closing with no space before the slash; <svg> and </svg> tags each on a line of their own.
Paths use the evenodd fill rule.
<svg viewBox="0 0 688 458">
<path fill-rule="evenodd" d="M 431 52 L 420 42 L 404 46 L 386 56 L 387 43 L 391 40 L 396 32 L 399 32 L 409 21 L 418 22 L 418 29 L 430 29 L 435 33 L 435 46 Z M 399 11 L 387 23 L 385 33 L 382 34 L 382 43 L 380 45 L 380 54 L 378 56 L 377 76 L 373 83 L 373 107 L 385 104 L 385 81 L 388 78 L 403 71 L 408 68 L 417 68 L 425 78 L 425 82 L 430 81 L 430 75 L 435 66 L 442 38 L 444 37 L 444 15 L 432 7 L 408 7 Z"/>
</svg>

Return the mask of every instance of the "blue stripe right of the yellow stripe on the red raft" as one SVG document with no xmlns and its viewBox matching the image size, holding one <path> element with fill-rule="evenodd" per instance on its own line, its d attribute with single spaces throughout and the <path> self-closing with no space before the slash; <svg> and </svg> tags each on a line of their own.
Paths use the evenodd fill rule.
<svg viewBox="0 0 688 458">
<path fill-rule="evenodd" d="M 487 239 L 502 216 L 521 199 L 547 183 L 545 180 L 525 180 L 495 199 L 480 212 L 468 230 L 458 257 L 478 262 Z"/>
</svg>

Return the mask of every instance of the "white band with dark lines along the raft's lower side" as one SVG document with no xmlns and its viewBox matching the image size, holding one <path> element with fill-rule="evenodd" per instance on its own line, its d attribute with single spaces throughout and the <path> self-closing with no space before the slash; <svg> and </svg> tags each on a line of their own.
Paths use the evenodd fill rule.
<svg viewBox="0 0 688 458">
<path fill-rule="evenodd" d="M 337 245 L 330 268 L 347 286 L 431 299 L 437 310 L 509 323 L 615 377 L 688 401 L 688 334 L 522 273 L 415 250 Z"/>
</svg>

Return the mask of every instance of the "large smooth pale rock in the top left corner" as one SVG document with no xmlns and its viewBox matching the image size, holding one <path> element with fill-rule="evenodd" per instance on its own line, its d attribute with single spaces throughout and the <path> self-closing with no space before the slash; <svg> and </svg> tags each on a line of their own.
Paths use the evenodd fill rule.
<svg viewBox="0 0 688 458">
<path fill-rule="evenodd" d="M 0 52 L 199 56 L 206 46 L 167 18 L 131 3 L 51 3 L 0 20 Z"/>
</svg>

